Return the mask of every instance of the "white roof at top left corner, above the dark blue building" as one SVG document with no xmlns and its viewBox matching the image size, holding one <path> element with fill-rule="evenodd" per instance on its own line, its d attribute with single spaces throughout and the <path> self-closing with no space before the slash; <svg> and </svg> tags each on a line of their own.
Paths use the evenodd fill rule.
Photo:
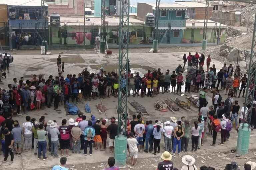
<svg viewBox="0 0 256 170">
<path fill-rule="evenodd" d="M 41 6 L 41 0 L 0 0 L 0 4 L 12 6 Z M 45 4 L 45 6 L 48 6 Z"/>
</svg>

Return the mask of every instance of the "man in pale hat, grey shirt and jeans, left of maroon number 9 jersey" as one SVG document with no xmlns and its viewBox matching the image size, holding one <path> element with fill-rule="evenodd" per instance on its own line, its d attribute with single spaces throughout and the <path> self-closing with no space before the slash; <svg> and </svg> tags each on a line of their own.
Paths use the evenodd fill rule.
<svg viewBox="0 0 256 170">
<path fill-rule="evenodd" d="M 51 156 L 55 158 L 60 157 L 58 155 L 58 144 L 60 131 L 56 128 L 56 123 L 52 121 L 50 125 L 50 134 L 51 134 Z"/>
</svg>

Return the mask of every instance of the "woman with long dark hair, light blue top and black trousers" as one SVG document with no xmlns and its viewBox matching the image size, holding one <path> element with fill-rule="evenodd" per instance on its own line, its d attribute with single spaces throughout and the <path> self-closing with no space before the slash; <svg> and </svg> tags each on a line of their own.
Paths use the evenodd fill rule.
<svg viewBox="0 0 256 170">
<path fill-rule="evenodd" d="M 163 128 L 161 127 L 161 122 L 156 123 L 156 127 L 153 130 L 153 140 L 154 140 L 154 155 L 156 155 L 156 148 L 157 153 L 160 153 L 160 140 L 163 133 Z"/>
</svg>

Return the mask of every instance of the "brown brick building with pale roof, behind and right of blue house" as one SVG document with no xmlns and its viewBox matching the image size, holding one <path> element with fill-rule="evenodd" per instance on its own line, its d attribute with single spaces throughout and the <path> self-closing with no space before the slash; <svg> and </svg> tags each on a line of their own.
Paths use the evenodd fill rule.
<svg viewBox="0 0 256 170">
<path fill-rule="evenodd" d="M 205 9 L 208 8 L 208 19 L 212 17 L 213 6 L 205 7 L 204 3 L 195 2 L 195 1 L 176 1 L 176 4 L 184 5 L 188 8 L 187 17 L 189 19 L 202 20 L 204 19 Z"/>
</svg>

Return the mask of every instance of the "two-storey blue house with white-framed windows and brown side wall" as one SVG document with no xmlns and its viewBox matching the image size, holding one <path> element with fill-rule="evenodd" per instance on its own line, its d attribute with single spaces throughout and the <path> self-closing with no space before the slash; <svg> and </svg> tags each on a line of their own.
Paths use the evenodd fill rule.
<svg viewBox="0 0 256 170">
<path fill-rule="evenodd" d="M 155 3 L 138 3 L 137 19 L 145 20 L 147 13 L 153 13 Z M 186 28 L 187 7 L 177 3 L 160 3 L 158 24 L 159 43 L 181 43 L 183 31 Z M 146 41 L 151 42 L 154 27 L 146 27 Z"/>
</svg>

